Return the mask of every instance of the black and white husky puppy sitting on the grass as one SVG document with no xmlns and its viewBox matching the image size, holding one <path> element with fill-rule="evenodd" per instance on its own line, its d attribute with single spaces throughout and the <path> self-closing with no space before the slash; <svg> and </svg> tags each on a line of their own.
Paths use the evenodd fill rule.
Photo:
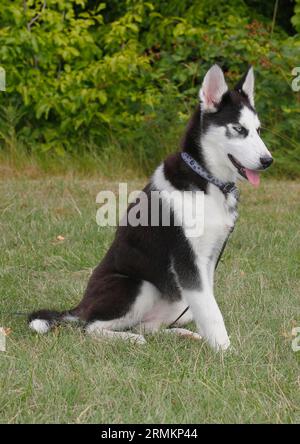
<svg viewBox="0 0 300 444">
<path fill-rule="evenodd" d="M 57 323 L 79 320 L 94 336 L 143 343 L 142 334 L 128 330 L 139 326 L 139 333 L 155 332 L 172 325 L 175 328 L 166 331 L 203 338 L 215 350 L 229 347 L 214 297 L 214 271 L 237 219 L 236 182 L 258 186 L 259 171 L 273 159 L 260 138 L 252 68 L 229 90 L 221 68 L 212 66 L 199 97 L 182 151 L 158 166 L 144 192 L 150 196 L 152 191 L 177 191 L 179 197 L 186 191 L 192 196 L 202 192 L 202 232 L 190 237 L 187 224 L 174 223 L 183 211 L 182 200 L 168 199 L 166 193 L 160 204 L 169 207 L 173 223 L 119 226 L 79 305 L 66 312 L 32 313 L 32 330 L 46 333 Z M 185 220 L 193 211 L 192 202 L 184 208 Z M 151 207 L 149 212 L 151 216 Z M 179 328 L 192 320 L 198 333 Z"/>
</svg>

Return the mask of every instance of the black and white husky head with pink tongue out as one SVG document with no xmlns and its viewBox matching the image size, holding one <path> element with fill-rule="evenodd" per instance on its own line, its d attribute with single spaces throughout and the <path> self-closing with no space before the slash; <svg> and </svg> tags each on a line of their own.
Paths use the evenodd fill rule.
<svg viewBox="0 0 300 444">
<path fill-rule="evenodd" d="M 200 89 L 200 106 L 201 145 L 212 172 L 248 179 L 257 186 L 259 171 L 269 167 L 273 158 L 260 137 L 252 67 L 229 90 L 221 68 L 212 66 Z"/>
</svg>

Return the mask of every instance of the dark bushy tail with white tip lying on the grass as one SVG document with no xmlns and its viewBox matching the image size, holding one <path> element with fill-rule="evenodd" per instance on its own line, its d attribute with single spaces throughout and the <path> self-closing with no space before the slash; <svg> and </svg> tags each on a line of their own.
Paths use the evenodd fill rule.
<svg viewBox="0 0 300 444">
<path fill-rule="evenodd" d="M 37 333 L 47 333 L 55 325 L 66 321 L 77 321 L 78 317 L 70 311 L 39 310 L 28 316 L 29 328 Z"/>
</svg>

